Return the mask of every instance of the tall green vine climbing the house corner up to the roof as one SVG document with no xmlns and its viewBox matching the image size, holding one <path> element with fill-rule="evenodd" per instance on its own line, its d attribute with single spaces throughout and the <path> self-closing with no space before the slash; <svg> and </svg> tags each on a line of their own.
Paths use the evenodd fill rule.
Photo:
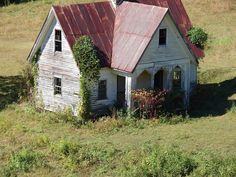
<svg viewBox="0 0 236 177">
<path fill-rule="evenodd" d="M 100 60 L 98 52 L 88 36 L 82 36 L 76 41 L 73 53 L 81 73 L 79 116 L 83 120 L 88 120 L 91 110 L 90 88 L 99 79 Z"/>
</svg>

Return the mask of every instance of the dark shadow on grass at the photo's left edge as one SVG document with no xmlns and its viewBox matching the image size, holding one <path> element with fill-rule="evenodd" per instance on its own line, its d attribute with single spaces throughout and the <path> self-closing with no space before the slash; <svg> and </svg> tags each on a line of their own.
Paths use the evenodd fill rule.
<svg viewBox="0 0 236 177">
<path fill-rule="evenodd" d="M 21 76 L 0 76 L 0 110 L 17 102 L 22 84 Z"/>
</svg>

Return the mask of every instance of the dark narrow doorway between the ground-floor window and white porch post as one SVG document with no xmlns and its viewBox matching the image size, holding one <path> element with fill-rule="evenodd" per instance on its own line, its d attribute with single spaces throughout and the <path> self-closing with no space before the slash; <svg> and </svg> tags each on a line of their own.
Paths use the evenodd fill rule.
<svg viewBox="0 0 236 177">
<path fill-rule="evenodd" d="M 117 107 L 125 107 L 125 77 L 117 76 Z"/>
</svg>

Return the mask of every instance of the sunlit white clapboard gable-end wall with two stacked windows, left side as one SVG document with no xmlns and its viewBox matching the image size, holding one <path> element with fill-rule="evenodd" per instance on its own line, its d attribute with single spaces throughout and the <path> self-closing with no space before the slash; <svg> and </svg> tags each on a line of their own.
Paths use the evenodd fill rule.
<svg viewBox="0 0 236 177">
<path fill-rule="evenodd" d="M 39 59 L 38 88 L 45 108 L 52 111 L 66 107 L 76 107 L 79 103 L 79 69 L 73 53 L 62 32 L 62 52 L 55 52 L 55 29 L 61 30 L 56 19 L 53 20 L 46 39 L 41 47 Z M 62 79 L 62 95 L 54 95 L 53 78 Z"/>
</svg>

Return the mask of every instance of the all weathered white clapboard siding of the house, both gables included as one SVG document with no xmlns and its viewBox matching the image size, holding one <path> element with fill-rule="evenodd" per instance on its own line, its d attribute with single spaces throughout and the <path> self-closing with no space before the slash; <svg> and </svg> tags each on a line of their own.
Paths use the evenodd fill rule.
<svg viewBox="0 0 236 177">
<path fill-rule="evenodd" d="M 160 28 L 167 28 L 167 45 L 164 47 L 158 46 Z M 80 72 L 63 32 L 62 52 L 54 51 L 55 29 L 61 30 L 56 18 L 52 21 L 41 46 L 42 54 L 38 63 L 39 95 L 42 97 L 47 110 L 58 111 L 67 107 L 75 109 L 80 101 Z M 171 17 L 167 14 L 142 55 L 134 73 L 123 73 L 123 75 L 130 77 L 130 83 L 132 83 L 130 88 L 135 89 L 136 78 L 143 70 L 151 73 L 153 80 L 157 69 L 164 68 L 169 72 L 165 85 L 170 88 L 172 82 L 170 73 L 177 65 L 183 70 L 184 80 L 182 85 L 187 92 L 190 92 L 191 86 L 197 82 L 197 63 Z M 62 79 L 62 95 L 54 95 L 54 77 Z M 103 68 L 100 71 L 100 80 L 107 81 L 107 99 L 98 100 L 98 85 L 95 85 L 91 89 L 91 107 L 94 111 L 114 105 L 117 99 L 117 74 L 112 69 Z M 128 86 L 126 89 L 128 89 Z"/>
</svg>

